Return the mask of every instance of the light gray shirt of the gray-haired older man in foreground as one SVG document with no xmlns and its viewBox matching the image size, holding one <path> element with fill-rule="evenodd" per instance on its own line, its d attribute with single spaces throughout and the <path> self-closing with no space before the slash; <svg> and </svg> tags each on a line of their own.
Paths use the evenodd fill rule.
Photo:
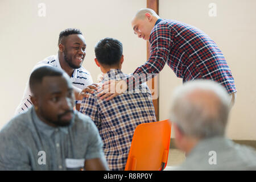
<svg viewBox="0 0 256 182">
<path fill-rule="evenodd" d="M 254 148 L 224 137 L 201 140 L 177 170 L 256 170 Z"/>
</svg>

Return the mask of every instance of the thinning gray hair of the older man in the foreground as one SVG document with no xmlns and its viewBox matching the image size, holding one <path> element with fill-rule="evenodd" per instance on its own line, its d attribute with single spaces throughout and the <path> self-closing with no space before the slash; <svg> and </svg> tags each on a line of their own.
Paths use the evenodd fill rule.
<svg viewBox="0 0 256 182">
<path fill-rule="evenodd" d="M 211 80 L 188 81 L 172 96 L 170 121 L 191 137 L 223 136 L 229 109 L 229 95 L 223 86 Z"/>
</svg>

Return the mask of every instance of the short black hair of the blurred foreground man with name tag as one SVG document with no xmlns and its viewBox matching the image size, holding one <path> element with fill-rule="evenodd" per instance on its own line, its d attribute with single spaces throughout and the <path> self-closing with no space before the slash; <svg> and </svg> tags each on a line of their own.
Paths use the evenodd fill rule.
<svg viewBox="0 0 256 182">
<path fill-rule="evenodd" d="M 30 75 L 30 90 L 31 93 L 35 93 L 35 85 L 41 84 L 42 80 L 46 76 L 63 76 L 64 71 L 59 68 L 55 68 L 49 65 L 36 68 Z"/>
</svg>

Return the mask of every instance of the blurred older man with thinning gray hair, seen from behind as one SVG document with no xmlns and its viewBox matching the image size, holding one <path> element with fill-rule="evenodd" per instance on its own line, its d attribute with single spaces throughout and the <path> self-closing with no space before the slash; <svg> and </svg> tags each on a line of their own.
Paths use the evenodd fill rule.
<svg viewBox="0 0 256 182">
<path fill-rule="evenodd" d="M 172 96 L 170 121 L 175 146 L 187 158 L 177 170 L 255 170 L 254 148 L 224 137 L 229 95 L 214 81 L 189 81 Z"/>
</svg>

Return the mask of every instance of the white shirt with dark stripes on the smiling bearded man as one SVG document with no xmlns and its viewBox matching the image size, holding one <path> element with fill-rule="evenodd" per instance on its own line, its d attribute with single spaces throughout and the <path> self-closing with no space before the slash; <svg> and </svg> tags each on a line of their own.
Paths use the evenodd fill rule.
<svg viewBox="0 0 256 182">
<path fill-rule="evenodd" d="M 59 56 L 52 55 L 47 57 L 43 61 L 40 61 L 38 64 L 36 64 L 35 67 L 32 69 L 32 71 L 44 65 L 51 65 L 52 67 L 61 69 Z M 84 67 L 75 69 L 70 79 L 72 84 L 80 89 L 84 89 L 87 85 L 93 84 L 93 80 L 92 80 L 92 76 L 90 75 L 90 72 L 88 72 Z M 27 81 L 27 85 L 24 90 L 22 101 L 20 102 L 18 108 L 16 109 L 15 114 L 26 111 L 28 108 L 32 106 L 30 97 L 31 97 L 31 91 L 30 91 L 29 81 Z"/>
</svg>

